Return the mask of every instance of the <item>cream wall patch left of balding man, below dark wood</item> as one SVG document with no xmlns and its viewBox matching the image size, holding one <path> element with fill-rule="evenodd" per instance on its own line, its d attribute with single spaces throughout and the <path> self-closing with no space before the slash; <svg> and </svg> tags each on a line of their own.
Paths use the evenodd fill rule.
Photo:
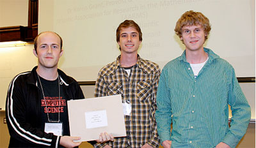
<svg viewBox="0 0 256 148">
<path fill-rule="evenodd" d="M 15 75 L 30 71 L 37 64 L 33 45 L 23 47 L 0 47 L 0 108 L 5 108 L 8 85 Z"/>
</svg>

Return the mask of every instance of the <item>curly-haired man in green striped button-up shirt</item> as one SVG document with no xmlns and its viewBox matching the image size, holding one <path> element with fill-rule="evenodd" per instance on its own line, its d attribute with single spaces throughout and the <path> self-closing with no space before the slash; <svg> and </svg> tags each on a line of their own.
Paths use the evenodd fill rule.
<svg viewBox="0 0 256 148">
<path fill-rule="evenodd" d="M 186 11 L 177 21 L 175 33 L 186 49 L 164 66 L 157 88 L 157 132 L 164 147 L 236 147 L 246 133 L 250 106 L 234 68 L 204 48 L 210 31 L 200 12 Z"/>
</svg>

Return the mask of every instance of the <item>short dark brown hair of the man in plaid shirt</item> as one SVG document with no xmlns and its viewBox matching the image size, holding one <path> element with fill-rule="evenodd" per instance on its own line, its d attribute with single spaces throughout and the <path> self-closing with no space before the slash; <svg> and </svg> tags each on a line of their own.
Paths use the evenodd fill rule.
<svg viewBox="0 0 256 148">
<path fill-rule="evenodd" d="M 138 26 L 138 24 L 136 24 L 136 22 L 134 22 L 133 20 L 125 20 L 124 22 L 122 22 L 116 29 L 116 41 L 120 41 L 120 32 L 122 28 L 127 28 L 127 27 L 134 27 L 134 29 L 136 29 L 136 31 L 138 31 L 139 33 L 139 38 L 140 41 L 142 41 L 142 33 L 140 30 L 140 26 Z"/>
</svg>

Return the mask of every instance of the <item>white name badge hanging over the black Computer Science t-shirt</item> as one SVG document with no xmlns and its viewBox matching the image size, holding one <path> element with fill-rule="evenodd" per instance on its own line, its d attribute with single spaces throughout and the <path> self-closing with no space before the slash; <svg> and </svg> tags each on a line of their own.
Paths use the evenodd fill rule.
<svg viewBox="0 0 256 148">
<path fill-rule="evenodd" d="M 63 132 L 62 129 L 63 127 L 61 122 L 58 122 L 58 123 L 45 122 L 45 126 L 44 126 L 45 133 L 53 133 L 53 135 L 62 136 L 62 132 Z"/>
</svg>

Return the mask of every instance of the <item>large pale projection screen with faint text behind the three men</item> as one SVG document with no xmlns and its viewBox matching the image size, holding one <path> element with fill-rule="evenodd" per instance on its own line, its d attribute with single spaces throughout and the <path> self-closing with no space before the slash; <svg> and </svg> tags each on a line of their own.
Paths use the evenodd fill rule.
<svg viewBox="0 0 256 148">
<path fill-rule="evenodd" d="M 115 31 L 125 19 L 141 27 L 141 57 L 163 68 L 180 56 L 185 47 L 173 29 L 188 10 L 201 11 L 210 20 L 205 47 L 232 64 L 237 77 L 255 77 L 254 0 L 45 0 L 39 1 L 38 28 L 63 37 L 60 67 L 79 81 L 89 81 L 120 54 Z"/>
</svg>

